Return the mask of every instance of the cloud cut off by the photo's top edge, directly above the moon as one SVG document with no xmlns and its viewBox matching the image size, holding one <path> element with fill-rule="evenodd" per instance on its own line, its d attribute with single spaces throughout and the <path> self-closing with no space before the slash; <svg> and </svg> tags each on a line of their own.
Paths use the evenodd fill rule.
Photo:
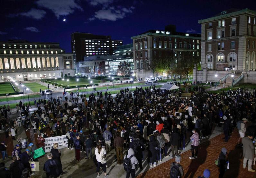
<svg viewBox="0 0 256 178">
<path fill-rule="evenodd" d="M 39 7 L 51 10 L 59 19 L 75 12 L 76 9 L 83 11 L 82 7 L 75 0 L 39 0 L 36 2 Z"/>
</svg>

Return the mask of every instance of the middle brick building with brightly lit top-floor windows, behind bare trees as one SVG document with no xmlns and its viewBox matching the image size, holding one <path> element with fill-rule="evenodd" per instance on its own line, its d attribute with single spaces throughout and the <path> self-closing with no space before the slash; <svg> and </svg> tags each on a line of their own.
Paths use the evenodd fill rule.
<svg viewBox="0 0 256 178">
<path fill-rule="evenodd" d="M 192 51 L 197 56 L 201 52 L 201 35 L 177 32 L 175 25 L 165 26 L 165 30 L 149 30 L 131 38 L 134 73 L 142 79 L 153 75 L 149 66 L 153 60 L 170 56 L 173 59 L 171 67 L 174 67 L 183 51 Z M 155 77 L 157 75 L 155 73 Z"/>
</svg>

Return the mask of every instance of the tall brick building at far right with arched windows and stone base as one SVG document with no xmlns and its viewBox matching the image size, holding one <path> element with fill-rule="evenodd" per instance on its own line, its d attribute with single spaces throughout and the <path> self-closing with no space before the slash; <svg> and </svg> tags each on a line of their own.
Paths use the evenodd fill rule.
<svg viewBox="0 0 256 178">
<path fill-rule="evenodd" d="M 244 73 L 244 82 L 248 82 L 247 74 L 256 69 L 256 12 L 230 9 L 198 23 L 202 29 L 203 70 L 194 69 L 194 80 L 215 81 L 228 73 Z"/>
</svg>

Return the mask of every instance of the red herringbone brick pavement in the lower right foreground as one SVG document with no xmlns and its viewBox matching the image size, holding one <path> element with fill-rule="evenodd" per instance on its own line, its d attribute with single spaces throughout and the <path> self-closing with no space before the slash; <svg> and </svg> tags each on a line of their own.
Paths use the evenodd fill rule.
<svg viewBox="0 0 256 178">
<path fill-rule="evenodd" d="M 191 155 L 190 151 L 181 154 L 181 165 L 184 169 L 184 177 L 198 177 L 202 176 L 205 169 L 211 171 L 211 177 L 218 177 L 219 170 L 214 164 L 215 159 L 218 158 L 221 148 L 225 147 L 228 150 L 227 160 L 230 162 L 230 169 L 227 170 L 224 177 L 235 178 L 256 178 L 256 173 L 251 173 L 242 166 L 242 148 L 237 147 L 237 140 L 239 138 L 238 130 L 235 129 L 232 137 L 228 142 L 223 141 L 224 134 L 220 134 L 211 140 L 204 141 L 198 146 L 198 158 L 191 160 L 188 157 Z M 169 161 L 156 166 L 138 175 L 138 178 L 165 178 L 170 177 L 170 164 L 174 162 L 175 159 L 170 159 Z M 252 166 L 256 169 L 256 166 Z"/>
</svg>

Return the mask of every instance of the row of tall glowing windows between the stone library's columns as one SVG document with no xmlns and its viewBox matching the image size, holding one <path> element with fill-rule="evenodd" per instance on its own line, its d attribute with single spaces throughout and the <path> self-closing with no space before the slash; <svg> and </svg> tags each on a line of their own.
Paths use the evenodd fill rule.
<svg viewBox="0 0 256 178">
<path fill-rule="evenodd" d="M 55 61 L 55 63 L 54 63 Z M 68 62 L 69 63 L 69 62 Z M 32 59 L 30 57 L 27 57 L 27 58 L 24 58 L 22 57 L 21 59 L 20 58 L 10 58 L 10 60 L 8 60 L 8 58 L 4 58 L 4 63 L 3 63 L 3 60 L 2 58 L 0 58 L 0 70 L 3 70 L 4 69 L 4 66 L 3 64 L 5 64 L 5 69 L 6 70 L 9 70 L 10 68 L 11 69 L 31 69 L 31 68 L 45 68 L 46 66 L 49 68 L 49 67 L 59 67 L 59 59 L 58 57 L 55 57 L 55 60 L 53 57 L 49 58 L 49 57 L 46 57 L 46 63 L 45 63 L 45 58 L 42 57 L 32 57 Z M 26 65 L 27 64 L 27 65 Z M 31 65 L 32 64 L 32 65 Z M 37 64 L 37 65 L 36 65 Z M 51 64 L 51 66 L 50 66 Z"/>
</svg>

